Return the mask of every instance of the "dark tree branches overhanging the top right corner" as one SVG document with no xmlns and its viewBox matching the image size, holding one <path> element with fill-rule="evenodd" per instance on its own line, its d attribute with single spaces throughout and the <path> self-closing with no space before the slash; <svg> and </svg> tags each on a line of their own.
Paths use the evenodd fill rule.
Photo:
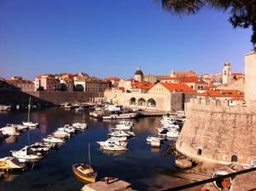
<svg viewBox="0 0 256 191">
<path fill-rule="evenodd" d="M 158 0 L 172 14 L 196 14 L 204 7 L 230 11 L 232 26 L 252 27 L 251 42 L 256 48 L 256 0 Z"/>
</svg>

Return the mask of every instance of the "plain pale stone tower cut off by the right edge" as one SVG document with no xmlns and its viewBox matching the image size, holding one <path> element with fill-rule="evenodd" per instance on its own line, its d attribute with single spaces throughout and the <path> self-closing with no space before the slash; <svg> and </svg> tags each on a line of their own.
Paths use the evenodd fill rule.
<svg viewBox="0 0 256 191">
<path fill-rule="evenodd" d="M 256 101 L 256 52 L 245 55 L 245 101 Z"/>
</svg>

